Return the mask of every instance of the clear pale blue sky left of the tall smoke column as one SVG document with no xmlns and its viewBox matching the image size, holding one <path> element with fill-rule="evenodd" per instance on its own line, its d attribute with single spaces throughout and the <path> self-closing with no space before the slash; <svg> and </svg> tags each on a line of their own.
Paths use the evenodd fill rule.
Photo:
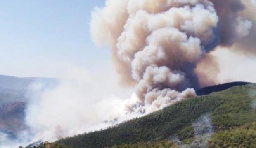
<svg viewBox="0 0 256 148">
<path fill-rule="evenodd" d="M 90 38 L 90 15 L 104 0 L 1 0 L 0 74 L 66 77 L 111 68 L 110 51 Z"/>
</svg>

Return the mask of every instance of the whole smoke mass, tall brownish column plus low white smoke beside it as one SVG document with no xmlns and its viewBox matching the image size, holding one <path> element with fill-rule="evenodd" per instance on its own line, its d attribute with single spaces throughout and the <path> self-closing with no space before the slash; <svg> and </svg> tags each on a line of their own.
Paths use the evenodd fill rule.
<svg viewBox="0 0 256 148">
<path fill-rule="evenodd" d="M 135 93 L 124 101 L 127 92 L 113 86 L 115 76 L 104 69 L 94 73 L 99 76 L 75 76 L 85 83 L 64 81 L 54 89 L 34 83 L 28 140 L 99 130 L 115 118 L 121 122 L 193 97 L 194 88 L 256 82 L 250 73 L 256 59 L 242 62 L 256 54 L 255 9 L 255 0 L 106 0 L 92 12 L 92 39 L 111 47 L 121 83 L 135 86 Z"/>
</svg>

